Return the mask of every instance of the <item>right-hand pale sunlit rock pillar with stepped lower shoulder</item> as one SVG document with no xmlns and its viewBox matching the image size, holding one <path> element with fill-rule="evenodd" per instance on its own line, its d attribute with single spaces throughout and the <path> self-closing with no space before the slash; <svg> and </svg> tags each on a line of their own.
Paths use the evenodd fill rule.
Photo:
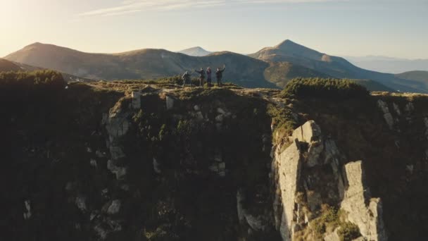
<svg viewBox="0 0 428 241">
<path fill-rule="evenodd" d="M 367 240 L 386 240 L 382 203 L 380 199 L 369 200 L 370 192 L 365 187 L 362 162 L 347 163 L 344 166 L 344 177 L 347 188 L 341 209 L 347 212 L 348 221 L 358 225 L 361 235 Z"/>
</svg>

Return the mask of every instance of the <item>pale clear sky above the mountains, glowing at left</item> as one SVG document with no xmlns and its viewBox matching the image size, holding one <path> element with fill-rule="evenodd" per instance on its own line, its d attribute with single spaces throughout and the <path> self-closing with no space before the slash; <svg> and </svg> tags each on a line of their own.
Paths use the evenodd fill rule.
<svg viewBox="0 0 428 241">
<path fill-rule="evenodd" d="M 290 39 L 335 56 L 428 58 L 427 26 L 428 0 L 0 0 L 0 56 L 34 42 L 251 54 Z"/>
</svg>

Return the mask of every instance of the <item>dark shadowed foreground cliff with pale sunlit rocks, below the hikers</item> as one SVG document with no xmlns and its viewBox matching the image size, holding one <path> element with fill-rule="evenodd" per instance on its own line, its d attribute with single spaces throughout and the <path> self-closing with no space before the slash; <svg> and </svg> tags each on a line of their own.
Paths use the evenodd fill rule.
<svg viewBox="0 0 428 241">
<path fill-rule="evenodd" d="M 427 97 L 278 94 L 99 82 L 2 101 L 2 235 L 424 237 Z"/>
</svg>

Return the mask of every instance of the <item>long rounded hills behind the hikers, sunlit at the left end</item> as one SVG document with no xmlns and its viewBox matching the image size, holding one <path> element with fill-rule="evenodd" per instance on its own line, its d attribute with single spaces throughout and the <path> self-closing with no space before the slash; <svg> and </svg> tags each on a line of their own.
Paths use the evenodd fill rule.
<svg viewBox="0 0 428 241">
<path fill-rule="evenodd" d="M 5 57 L 10 61 L 50 68 L 90 79 L 156 79 L 185 70 L 227 66 L 225 80 L 244 87 L 275 87 L 264 78 L 264 61 L 232 52 L 195 57 L 165 49 L 140 49 L 120 54 L 91 54 L 52 44 L 31 44 Z M 194 75 L 196 77 L 196 74 Z"/>
</svg>

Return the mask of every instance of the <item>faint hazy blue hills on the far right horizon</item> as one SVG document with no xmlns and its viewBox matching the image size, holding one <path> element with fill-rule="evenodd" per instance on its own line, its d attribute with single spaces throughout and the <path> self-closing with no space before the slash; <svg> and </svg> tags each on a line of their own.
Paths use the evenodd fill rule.
<svg viewBox="0 0 428 241">
<path fill-rule="evenodd" d="M 428 59 L 405 59 L 385 56 L 346 56 L 344 58 L 360 68 L 382 73 L 403 73 L 412 70 L 428 71 Z"/>
</svg>

